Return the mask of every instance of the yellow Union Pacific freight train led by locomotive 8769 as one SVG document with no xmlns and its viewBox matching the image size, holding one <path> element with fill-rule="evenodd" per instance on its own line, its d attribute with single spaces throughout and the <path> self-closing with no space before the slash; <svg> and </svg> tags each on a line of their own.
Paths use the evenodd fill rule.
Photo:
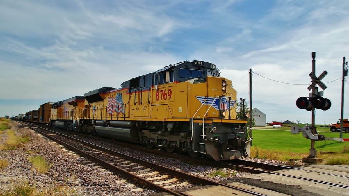
<svg viewBox="0 0 349 196">
<path fill-rule="evenodd" d="M 17 119 L 140 143 L 215 160 L 250 155 L 236 90 L 212 63 L 183 61 L 67 100 L 47 102 Z"/>
</svg>

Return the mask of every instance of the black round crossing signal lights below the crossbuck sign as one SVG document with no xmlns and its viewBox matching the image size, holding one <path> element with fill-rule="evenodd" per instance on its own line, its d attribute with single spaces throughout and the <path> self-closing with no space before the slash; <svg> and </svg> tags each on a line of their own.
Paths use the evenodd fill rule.
<svg viewBox="0 0 349 196">
<path fill-rule="evenodd" d="M 299 97 L 296 101 L 296 105 L 299 109 L 305 109 L 307 111 L 311 111 L 312 107 L 321 110 L 328 110 L 331 107 L 331 101 L 327 98 L 323 98 L 321 96 L 306 98 Z"/>
</svg>

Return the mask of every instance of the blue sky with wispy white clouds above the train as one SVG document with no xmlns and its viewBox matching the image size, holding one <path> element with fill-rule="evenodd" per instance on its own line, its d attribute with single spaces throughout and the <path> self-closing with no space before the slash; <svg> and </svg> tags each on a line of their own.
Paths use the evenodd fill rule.
<svg viewBox="0 0 349 196">
<path fill-rule="evenodd" d="M 214 63 L 248 99 L 248 69 L 274 80 L 310 84 L 317 75 L 341 77 L 349 59 L 349 2 L 334 1 L 10 1 L 0 2 L 0 116 L 46 101 L 118 88 L 135 76 L 184 60 Z M 296 107 L 307 85 L 253 75 L 253 107 L 267 121 L 302 120 Z M 349 83 L 346 82 L 345 97 Z M 326 84 L 328 111 L 317 123 L 340 118 L 341 81 Z M 344 116 L 348 103 L 345 104 Z"/>
</svg>

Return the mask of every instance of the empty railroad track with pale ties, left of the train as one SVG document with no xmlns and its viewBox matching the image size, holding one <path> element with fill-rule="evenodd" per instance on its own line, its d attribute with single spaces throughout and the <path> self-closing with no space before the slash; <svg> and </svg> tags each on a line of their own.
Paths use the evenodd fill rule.
<svg viewBox="0 0 349 196">
<path fill-rule="evenodd" d="M 98 146 L 89 142 L 85 142 L 74 137 L 70 137 L 55 131 L 38 127 L 35 125 L 29 125 L 24 122 L 20 122 L 43 136 L 50 138 L 51 140 L 64 145 L 66 148 L 75 151 L 83 157 L 86 157 L 95 163 L 109 169 L 112 172 L 116 172 L 121 176 L 129 179 L 130 181 L 139 184 L 140 186 L 157 190 L 159 192 L 167 192 L 172 195 L 187 195 L 185 193 L 176 192 L 171 190 L 174 186 L 184 186 L 188 183 L 200 184 L 200 185 L 219 185 L 227 187 L 233 190 L 242 191 L 251 195 L 264 195 L 255 191 L 239 188 L 229 184 L 223 184 L 204 178 L 200 178 L 191 174 L 177 171 L 172 168 L 164 167 L 151 163 L 149 161 L 141 160 L 136 157 L 128 156 L 127 154 L 119 153 L 110 149 L 106 149 L 102 146 Z M 146 173 L 150 172 L 150 173 Z M 135 174 L 141 173 L 141 174 Z M 147 178 L 150 175 L 161 175 L 159 177 Z M 126 181 L 126 180 L 125 180 Z M 123 181 L 123 182 L 125 182 Z M 178 182 L 166 186 L 166 183 Z M 120 182 L 121 183 L 121 182 Z"/>
</svg>

